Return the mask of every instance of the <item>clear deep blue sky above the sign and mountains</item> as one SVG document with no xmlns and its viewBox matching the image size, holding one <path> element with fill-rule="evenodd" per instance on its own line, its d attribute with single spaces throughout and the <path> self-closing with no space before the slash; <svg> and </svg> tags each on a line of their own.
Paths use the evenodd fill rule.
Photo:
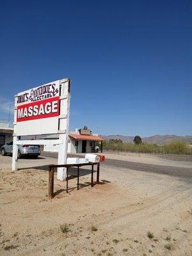
<svg viewBox="0 0 192 256">
<path fill-rule="evenodd" d="M 70 129 L 191 134 L 191 10 L 189 0 L 0 0 L 0 119 L 15 93 L 70 77 Z"/>
</svg>

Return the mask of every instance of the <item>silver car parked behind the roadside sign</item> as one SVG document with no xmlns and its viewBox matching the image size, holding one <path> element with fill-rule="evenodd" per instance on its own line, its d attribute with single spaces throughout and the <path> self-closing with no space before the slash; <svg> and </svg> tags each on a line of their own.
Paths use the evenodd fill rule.
<svg viewBox="0 0 192 256">
<path fill-rule="evenodd" d="M 13 152 L 13 141 L 6 143 L 1 147 L 1 155 L 6 156 L 6 154 L 12 154 Z M 39 145 L 19 145 L 18 148 L 18 158 L 21 156 L 34 156 L 37 158 L 40 155 Z"/>
</svg>

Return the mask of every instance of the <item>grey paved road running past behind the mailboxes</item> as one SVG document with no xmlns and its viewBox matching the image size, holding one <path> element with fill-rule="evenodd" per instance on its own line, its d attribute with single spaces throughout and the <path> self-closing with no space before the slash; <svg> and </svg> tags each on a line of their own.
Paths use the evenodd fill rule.
<svg viewBox="0 0 192 256">
<path fill-rule="evenodd" d="M 57 158 L 58 154 L 42 152 L 41 156 Z M 77 155 L 73 156 L 70 154 L 70 157 L 76 157 L 76 156 Z M 188 179 L 189 182 L 192 182 L 192 169 L 191 168 L 180 168 L 180 167 L 175 167 L 175 166 L 161 166 L 161 165 L 156 165 L 156 164 L 134 163 L 134 162 L 130 162 L 130 161 L 120 161 L 120 160 L 114 160 L 114 159 L 106 159 L 106 161 L 102 164 L 117 167 L 117 168 L 118 167 L 127 168 L 127 169 L 136 170 L 136 171 L 140 171 L 140 172 L 154 172 L 154 173 L 167 174 L 170 176 Z"/>
</svg>

